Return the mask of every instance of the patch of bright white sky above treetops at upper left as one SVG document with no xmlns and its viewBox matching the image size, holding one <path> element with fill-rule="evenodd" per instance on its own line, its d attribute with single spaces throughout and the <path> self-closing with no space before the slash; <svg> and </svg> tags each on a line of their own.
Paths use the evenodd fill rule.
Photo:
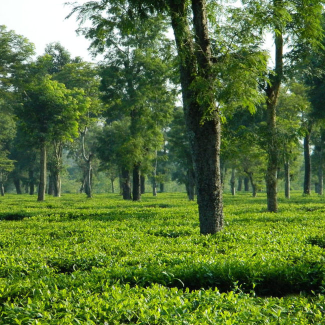
<svg viewBox="0 0 325 325">
<path fill-rule="evenodd" d="M 68 0 L 0 0 L 0 24 L 17 34 L 27 37 L 35 44 L 37 55 L 44 53 L 45 45 L 59 41 L 71 56 L 81 56 L 90 61 L 89 42 L 77 36 L 75 16 L 64 19 L 71 11 L 64 6 Z M 72 2 L 71 0 L 70 2 Z M 79 3 L 86 0 L 79 0 Z"/>
</svg>

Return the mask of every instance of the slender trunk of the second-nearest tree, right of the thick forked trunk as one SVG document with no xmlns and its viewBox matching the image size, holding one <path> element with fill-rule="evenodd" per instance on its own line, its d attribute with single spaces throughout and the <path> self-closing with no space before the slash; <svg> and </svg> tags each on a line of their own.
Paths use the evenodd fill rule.
<svg viewBox="0 0 325 325">
<path fill-rule="evenodd" d="M 282 6 L 282 0 L 274 0 L 278 8 Z M 274 73 L 269 75 L 269 83 L 266 86 L 266 123 L 267 123 L 267 169 L 266 169 L 266 196 L 267 210 L 277 212 L 277 167 L 278 167 L 278 143 L 276 134 L 276 103 L 283 76 L 283 37 L 281 26 L 274 26 L 275 66 Z"/>
</svg>

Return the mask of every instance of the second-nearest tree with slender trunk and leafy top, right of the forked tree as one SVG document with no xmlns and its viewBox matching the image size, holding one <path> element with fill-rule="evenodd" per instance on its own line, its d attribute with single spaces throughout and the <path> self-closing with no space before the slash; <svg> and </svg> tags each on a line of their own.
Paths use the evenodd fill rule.
<svg viewBox="0 0 325 325">
<path fill-rule="evenodd" d="M 276 127 L 276 104 L 280 86 L 287 67 L 284 65 L 283 46 L 285 40 L 290 48 L 287 53 L 288 64 L 301 61 L 306 57 L 306 48 L 319 44 L 322 35 L 321 0 L 244 0 L 244 5 L 250 7 L 260 17 L 260 21 L 270 30 L 274 37 L 274 68 L 269 73 L 265 87 L 266 123 L 265 137 L 267 139 L 267 170 L 266 192 L 267 210 L 277 211 L 277 169 L 279 163 L 279 138 Z M 311 19 L 312 17 L 312 19 Z"/>
</svg>

